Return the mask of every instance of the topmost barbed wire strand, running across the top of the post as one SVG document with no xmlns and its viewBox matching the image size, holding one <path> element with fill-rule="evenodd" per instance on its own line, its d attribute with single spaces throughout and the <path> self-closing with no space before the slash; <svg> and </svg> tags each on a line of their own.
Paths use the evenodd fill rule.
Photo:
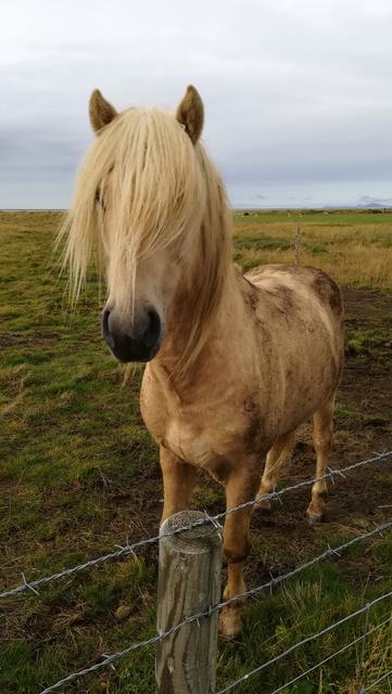
<svg viewBox="0 0 392 694">
<path fill-rule="evenodd" d="M 46 583 L 52 582 L 54 580 L 59 580 L 61 578 L 66 578 L 69 577 L 74 574 L 78 574 L 80 571 L 84 571 L 88 568 L 92 568 L 93 566 L 99 566 L 100 564 L 103 564 L 104 562 L 109 562 L 109 561 L 115 561 L 118 560 L 121 557 L 125 557 L 128 556 L 129 554 L 134 554 L 136 550 L 149 545 L 149 544 L 154 544 L 155 542 L 159 542 L 159 540 L 161 538 L 166 538 L 166 537 L 172 537 L 174 535 L 178 535 L 180 532 L 185 532 L 188 530 L 192 530 L 195 527 L 199 526 L 203 526 L 203 525 L 207 525 L 210 523 L 216 523 L 219 522 L 222 518 L 226 517 L 227 515 L 231 514 L 231 513 L 236 513 L 237 511 L 242 511 L 243 509 L 246 509 L 249 506 L 254 506 L 254 505 L 258 505 L 261 502 L 263 501 L 274 501 L 276 499 L 279 499 L 291 491 L 294 491 L 296 489 L 301 489 L 302 487 L 308 487 L 311 485 L 314 485 L 316 481 L 321 481 L 323 479 L 332 479 L 334 477 L 343 477 L 345 478 L 345 474 L 356 470 L 358 467 L 363 467 L 364 465 L 368 465 L 370 463 L 375 463 L 375 462 L 379 462 L 381 460 L 384 460 L 385 458 L 390 458 L 392 455 L 392 451 L 382 451 L 381 453 L 375 453 L 372 458 L 368 458 L 366 460 L 362 460 L 358 461 L 356 463 L 352 463 L 351 465 L 347 465 L 346 467 L 342 467 L 342 468 L 336 468 L 336 470 L 331 470 L 328 468 L 328 472 L 325 475 L 320 475 L 319 477 L 313 477 L 312 479 L 305 479 L 303 481 L 300 481 L 295 485 L 291 485 L 288 487 L 284 487 L 283 489 L 281 489 L 280 491 L 273 491 L 271 493 L 268 494 L 264 494 L 263 497 L 260 497 L 258 499 L 253 499 L 252 501 L 246 501 L 244 503 L 239 504 L 238 506 L 232 506 L 231 509 L 227 509 L 226 511 L 223 511 L 222 513 L 217 513 L 215 516 L 208 516 L 207 514 L 205 514 L 205 518 L 200 518 L 198 520 L 192 520 L 191 523 L 189 523 L 186 526 L 181 526 L 179 528 L 175 528 L 170 531 L 164 532 L 162 535 L 156 535 L 154 537 L 151 538 L 147 538 L 146 540 L 140 540 L 138 542 L 134 542 L 132 544 L 126 543 L 124 545 L 116 545 L 118 547 L 118 549 L 116 551 L 113 552 L 109 552 L 108 554 L 104 554 L 102 556 L 99 556 L 94 560 L 89 560 L 87 562 L 84 562 L 83 564 L 78 564 L 76 566 L 73 566 L 71 568 L 66 568 L 62 571 L 58 571 L 55 574 L 52 574 L 51 576 L 46 576 L 43 578 L 38 578 L 36 580 L 33 581 L 27 581 L 25 575 L 22 573 L 22 578 L 23 578 L 23 582 L 17 586 L 16 588 L 13 588 L 11 590 L 4 591 L 2 593 L 0 593 L 0 599 L 5 599 L 5 597 L 11 597 L 13 595 L 16 595 L 18 593 L 23 593 L 26 590 L 30 590 L 31 592 L 34 592 L 35 594 L 38 594 L 38 588 L 40 586 L 45 586 Z"/>
</svg>

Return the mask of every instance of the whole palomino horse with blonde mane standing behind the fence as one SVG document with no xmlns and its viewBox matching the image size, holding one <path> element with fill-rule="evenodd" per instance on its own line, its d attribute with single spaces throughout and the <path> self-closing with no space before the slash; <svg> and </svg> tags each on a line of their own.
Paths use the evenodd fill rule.
<svg viewBox="0 0 392 694">
<path fill-rule="evenodd" d="M 193 87 L 176 114 L 117 113 L 94 91 L 90 120 L 98 137 L 63 230 L 66 261 L 77 297 L 96 254 L 108 286 L 103 337 L 119 361 L 148 362 L 140 404 L 160 446 L 163 518 L 188 506 L 198 467 L 224 485 L 228 509 L 275 490 L 311 416 L 321 476 L 343 362 L 338 286 L 314 268 L 242 275 L 232 264 L 225 190 L 200 143 Z M 325 492 L 316 481 L 313 522 Z M 245 590 L 250 516 L 245 507 L 226 518 L 225 597 Z M 240 629 L 237 602 L 220 630 Z"/>
</svg>

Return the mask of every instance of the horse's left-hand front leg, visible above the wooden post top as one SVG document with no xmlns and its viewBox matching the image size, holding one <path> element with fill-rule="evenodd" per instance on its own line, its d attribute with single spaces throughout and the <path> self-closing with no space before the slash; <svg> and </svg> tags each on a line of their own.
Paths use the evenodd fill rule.
<svg viewBox="0 0 392 694">
<path fill-rule="evenodd" d="M 160 447 L 160 463 L 163 475 L 164 504 L 162 520 L 178 511 L 188 509 L 195 484 L 197 471 L 164 446 Z"/>
</svg>

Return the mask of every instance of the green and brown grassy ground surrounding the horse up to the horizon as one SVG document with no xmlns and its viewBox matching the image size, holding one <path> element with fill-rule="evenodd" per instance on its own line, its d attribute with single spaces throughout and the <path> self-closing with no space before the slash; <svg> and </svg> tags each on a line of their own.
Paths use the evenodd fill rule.
<svg viewBox="0 0 392 694">
<path fill-rule="evenodd" d="M 99 327 L 93 275 L 77 311 L 66 308 L 52 242 L 54 213 L 0 214 L 0 589 L 73 566 L 115 544 L 155 535 L 162 509 L 157 450 L 138 409 L 140 372 L 122 387 Z M 235 216 L 233 254 L 249 269 L 301 261 L 342 283 L 347 313 L 346 369 L 339 395 L 332 466 L 392 448 L 392 214 L 270 213 Z M 249 587 L 392 518 L 392 462 L 337 481 L 327 522 L 304 522 L 308 491 L 288 494 L 271 516 L 254 516 Z M 305 426 L 282 485 L 314 475 Z M 224 497 L 200 476 L 193 505 L 222 511 Z M 392 590 L 392 536 L 352 548 L 264 594 L 244 609 L 243 633 L 219 642 L 218 689 L 300 639 Z M 156 549 L 68 580 L 0 601 L 0 692 L 36 694 L 71 671 L 154 634 Z M 369 626 L 391 616 L 371 611 Z M 392 667 L 392 622 L 367 640 L 367 681 Z M 364 632 L 364 619 L 304 645 L 236 689 L 267 694 Z M 284 694 L 354 694 L 354 647 Z M 115 671 L 66 691 L 151 694 L 154 652 L 124 658 Z M 385 680 L 372 692 L 390 692 Z"/>
</svg>

